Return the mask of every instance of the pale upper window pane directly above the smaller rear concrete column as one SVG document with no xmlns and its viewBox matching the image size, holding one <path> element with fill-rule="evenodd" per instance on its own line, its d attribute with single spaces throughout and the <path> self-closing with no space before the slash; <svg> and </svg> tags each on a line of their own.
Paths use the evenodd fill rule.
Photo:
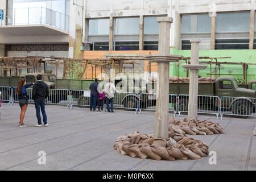
<svg viewBox="0 0 256 182">
<path fill-rule="evenodd" d="M 181 17 L 181 34 L 210 33 L 211 18 L 208 14 L 183 15 Z"/>
</svg>

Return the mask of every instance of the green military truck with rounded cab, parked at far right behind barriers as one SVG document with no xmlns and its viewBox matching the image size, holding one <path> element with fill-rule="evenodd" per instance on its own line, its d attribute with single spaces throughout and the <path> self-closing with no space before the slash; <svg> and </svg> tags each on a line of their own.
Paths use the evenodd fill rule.
<svg viewBox="0 0 256 182">
<path fill-rule="evenodd" d="M 248 88 L 252 88 L 255 81 L 251 81 L 248 84 Z M 170 94 L 187 95 L 189 93 L 189 82 L 170 82 Z M 198 94 L 201 96 L 218 96 L 218 97 L 238 97 L 237 99 L 225 100 L 221 108 L 231 109 L 233 114 L 236 115 L 250 115 L 255 110 L 256 91 L 247 88 L 241 88 L 237 84 L 237 80 L 234 77 L 219 77 L 215 82 L 199 82 Z M 148 100 L 151 100 L 151 105 L 155 105 L 155 83 L 147 84 L 147 93 L 149 93 Z M 241 100 L 241 98 L 243 98 Z M 170 99 L 171 102 L 177 102 Z M 205 102 L 204 98 L 199 101 L 199 107 L 207 105 L 214 105 L 219 107 L 219 103 L 216 98 L 212 97 Z M 142 104 L 143 105 L 143 104 Z M 188 110 L 188 97 L 180 97 L 179 110 Z M 176 105 L 174 105 L 176 106 Z M 145 106 L 147 107 L 147 106 Z M 216 109 L 216 108 L 215 108 Z M 240 117 L 245 118 L 245 117 Z"/>
</svg>

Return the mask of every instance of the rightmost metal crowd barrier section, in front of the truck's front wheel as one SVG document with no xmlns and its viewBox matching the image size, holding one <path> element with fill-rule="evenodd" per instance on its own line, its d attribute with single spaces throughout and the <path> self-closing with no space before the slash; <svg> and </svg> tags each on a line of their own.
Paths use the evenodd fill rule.
<svg viewBox="0 0 256 182">
<path fill-rule="evenodd" d="M 256 98 L 221 97 L 220 116 L 235 115 L 237 117 L 256 117 Z"/>
</svg>

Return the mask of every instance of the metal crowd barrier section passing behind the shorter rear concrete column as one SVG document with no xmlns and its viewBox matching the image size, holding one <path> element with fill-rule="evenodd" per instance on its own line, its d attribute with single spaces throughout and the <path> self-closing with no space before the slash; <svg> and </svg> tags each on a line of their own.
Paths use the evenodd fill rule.
<svg viewBox="0 0 256 182">
<path fill-rule="evenodd" d="M 198 96 L 197 113 L 215 114 L 217 119 L 220 114 L 220 98 L 218 96 Z M 177 113 L 188 113 L 188 95 L 181 94 L 177 98 Z"/>
</svg>

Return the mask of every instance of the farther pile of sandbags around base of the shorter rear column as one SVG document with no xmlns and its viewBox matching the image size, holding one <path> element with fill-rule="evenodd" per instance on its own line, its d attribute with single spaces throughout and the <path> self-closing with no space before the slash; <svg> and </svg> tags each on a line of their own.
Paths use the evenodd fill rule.
<svg viewBox="0 0 256 182">
<path fill-rule="evenodd" d="M 224 131 L 219 123 L 210 121 L 195 121 L 188 119 L 169 119 L 169 137 L 173 134 L 189 135 L 214 135 L 223 134 Z"/>
</svg>

